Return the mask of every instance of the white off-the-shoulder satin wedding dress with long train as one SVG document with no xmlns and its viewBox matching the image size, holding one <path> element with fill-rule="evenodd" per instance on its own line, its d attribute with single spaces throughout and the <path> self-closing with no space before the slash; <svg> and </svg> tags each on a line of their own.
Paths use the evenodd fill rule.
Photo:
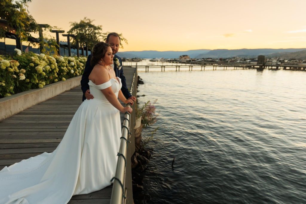
<svg viewBox="0 0 306 204">
<path fill-rule="evenodd" d="M 121 79 L 88 84 L 94 99 L 80 105 L 56 150 L 0 171 L 0 204 L 65 204 L 73 195 L 112 183 L 120 146 L 120 113 L 101 89 L 111 87 L 118 97 Z"/>
</svg>

